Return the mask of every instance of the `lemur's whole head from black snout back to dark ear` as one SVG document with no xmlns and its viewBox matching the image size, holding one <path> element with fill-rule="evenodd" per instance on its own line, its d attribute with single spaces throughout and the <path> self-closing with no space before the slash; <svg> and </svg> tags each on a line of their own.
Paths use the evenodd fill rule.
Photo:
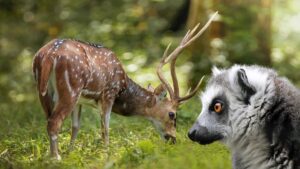
<svg viewBox="0 0 300 169">
<path fill-rule="evenodd" d="M 242 68 L 214 73 L 201 96 L 202 111 L 188 133 L 189 138 L 200 144 L 226 141 L 233 135 L 232 117 L 240 116 L 236 112 L 245 109 L 255 93 Z"/>
</svg>

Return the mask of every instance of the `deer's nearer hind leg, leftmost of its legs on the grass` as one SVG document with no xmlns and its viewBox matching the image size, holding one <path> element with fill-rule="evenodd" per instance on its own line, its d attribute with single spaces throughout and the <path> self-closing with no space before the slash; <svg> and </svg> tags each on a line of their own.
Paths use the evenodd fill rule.
<svg viewBox="0 0 300 169">
<path fill-rule="evenodd" d="M 71 101 L 71 102 L 69 102 Z M 70 99 L 68 102 L 59 101 L 53 111 L 53 114 L 48 119 L 48 135 L 50 139 L 50 153 L 52 157 L 60 160 L 58 153 L 58 132 L 65 117 L 70 114 L 74 108 L 75 101 Z"/>
</svg>

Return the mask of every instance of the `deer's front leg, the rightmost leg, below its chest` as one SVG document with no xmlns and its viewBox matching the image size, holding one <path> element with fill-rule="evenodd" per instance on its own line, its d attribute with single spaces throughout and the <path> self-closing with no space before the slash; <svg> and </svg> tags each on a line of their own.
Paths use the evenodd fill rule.
<svg viewBox="0 0 300 169">
<path fill-rule="evenodd" d="M 102 139 L 104 140 L 104 144 L 108 146 L 109 144 L 109 119 L 110 119 L 110 113 L 113 106 L 113 100 L 102 100 L 101 101 L 101 107 L 100 115 L 101 115 L 101 135 Z"/>
</svg>

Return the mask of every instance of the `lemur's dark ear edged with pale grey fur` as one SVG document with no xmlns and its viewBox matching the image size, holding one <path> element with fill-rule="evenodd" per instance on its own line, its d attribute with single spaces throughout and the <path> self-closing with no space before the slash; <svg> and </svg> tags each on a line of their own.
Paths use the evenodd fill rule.
<svg viewBox="0 0 300 169">
<path fill-rule="evenodd" d="M 246 72 L 244 69 L 240 69 L 237 72 L 237 81 L 242 89 L 242 94 L 246 104 L 249 104 L 250 97 L 256 93 L 256 89 L 252 86 L 247 78 Z"/>
</svg>

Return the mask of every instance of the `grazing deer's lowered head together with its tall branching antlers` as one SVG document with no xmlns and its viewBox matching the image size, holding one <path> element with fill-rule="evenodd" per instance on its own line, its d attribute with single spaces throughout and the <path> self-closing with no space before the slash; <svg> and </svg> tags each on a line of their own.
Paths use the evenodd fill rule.
<svg viewBox="0 0 300 169">
<path fill-rule="evenodd" d="M 160 131 L 162 137 L 166 140 L 171 139 L 172 143 L 176 142 L 176 111 L 180 104 L 192 98 L 196 94 L 203 80 L 203 78 L 201 78 L 197 86 L 186 96 L 179 96 L 179 86 L 175 72 L 176 59 L 183 49 L 195 41 L 207 29 L 216 14 L 217 12 L 199 31 L 197 31 L 199 24 L 196 25 L 193 30 L 189 30 L 181 40 L 179 46 L 176 47 L 170 54 L 168 54 L 170 44 L 168 45 L 164 52 L 163 58 L 157 67 L 157 75 L 161 81 L 161 84 L 155 89 L 151 86 L 148 86 L 148 90 L 154 94 L 154 99 L 150 101 L 146 111 L 153 115 L 150 120 Z M 170 63 L 173 87 L 171 87 L 171 85 L 167 82 L 162 73 L 162 67 L 167 63 Z M 169 98 L 167 97 L 167 93 L 169 93 Z"/>
</svg>

